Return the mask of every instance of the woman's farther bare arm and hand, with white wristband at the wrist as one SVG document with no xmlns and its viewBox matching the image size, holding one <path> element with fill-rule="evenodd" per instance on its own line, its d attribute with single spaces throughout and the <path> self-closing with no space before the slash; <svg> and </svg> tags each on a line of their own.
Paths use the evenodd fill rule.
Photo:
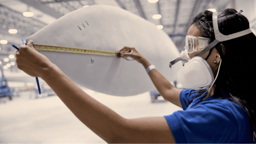
<svg viewBox="0 0 256 144">
<path fill-rule="evenodd" d="M 134 49 L 134 47 L 124 47 L 120 49 L 120 51 L 131 51 L 129 53 L 124 53 L 122 56 L 124 58 L 130 56 L 134 60 L 141 63 L 145 69 L 151 65 L 144 56 Z M 148 76 L 165 100 L 168 100 L 169 102 L 172 102 L 176 106 L 182 108 L 179 97 L 182 90 L 175 88 L 175 86 L 173 86 L 170 81 L 168 81 L 156 68 L 150 70 L 150 72 L 148 72 Z"/>
</svg>

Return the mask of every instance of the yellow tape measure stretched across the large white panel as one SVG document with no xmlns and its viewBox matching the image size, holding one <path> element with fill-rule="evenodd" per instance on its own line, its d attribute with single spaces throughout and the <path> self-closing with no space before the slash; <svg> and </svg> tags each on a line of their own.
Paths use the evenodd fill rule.
<svg viewBox="0 0 256 144">
<path fill-rule="evenodd" d="M 70 52 L 70 53 L 77 53 L 77 54 L 96 54 L 96 55 L 102 55 L 102 56 L 117 56 L 118 58 L 121 57 L 122 53 L 129 52 L 129 51 L 122 51 L 122 52 L 96 51 L 96 50 L 90 50 L 90 49 L 55 47 L 50 45 L 36 45 L 36 44 L 33 44 L 33 46 L 36 49 L 36 51 Z"/>
</svg>

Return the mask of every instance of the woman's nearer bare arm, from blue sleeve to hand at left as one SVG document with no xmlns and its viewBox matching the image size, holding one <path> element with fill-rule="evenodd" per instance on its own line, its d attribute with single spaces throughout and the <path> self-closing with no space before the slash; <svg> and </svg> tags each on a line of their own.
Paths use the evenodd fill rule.
<svg viewBox="0 0 256 144">
<path fill-rule="evenodd" d="M 32 47 L 20 45 L 17 66 L 41 77 L 74 115 L 108 143 L 175 143 L 164 116 L 126 119 L 83 92 L 56 65 Z"/>
</svg>

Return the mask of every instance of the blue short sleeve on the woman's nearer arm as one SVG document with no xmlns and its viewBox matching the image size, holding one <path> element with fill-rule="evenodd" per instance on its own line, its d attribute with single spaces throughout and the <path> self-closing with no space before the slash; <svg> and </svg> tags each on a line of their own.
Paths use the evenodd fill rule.
<svg viewBox="0 0 256 144">
<path fill-rule="evenodd" d="M 222 104 L 198 104 L 164 116 L 176 143 L 236 143 L 237 123 Z"/>
</svg>

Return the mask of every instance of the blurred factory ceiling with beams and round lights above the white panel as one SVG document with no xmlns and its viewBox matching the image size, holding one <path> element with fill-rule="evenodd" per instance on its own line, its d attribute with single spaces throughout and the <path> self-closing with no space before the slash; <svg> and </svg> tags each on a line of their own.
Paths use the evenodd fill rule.
<svg viewBox="0 0 256 144">
<path fill-rule="evenodd" d="M 149 20 L 163 28 L 179 51 L 184 49 L 184 35 L 196 14 L 209 8 L 220 11 L 233 6 L 230 0 L 0 0 L 0 39 L 8 40 L 8 44 L 0 44 L 0 61 L 14 54 L 12 44 L 20 45 L 22 38 L 52 21 L 93 4 L 118 6 Z M 22 13 L 26 11 L 33 12 L 33 17 L 24 17 Z M 17 33 L 10 33 L 10 29 L 17 29 Z"/>
</svg>

